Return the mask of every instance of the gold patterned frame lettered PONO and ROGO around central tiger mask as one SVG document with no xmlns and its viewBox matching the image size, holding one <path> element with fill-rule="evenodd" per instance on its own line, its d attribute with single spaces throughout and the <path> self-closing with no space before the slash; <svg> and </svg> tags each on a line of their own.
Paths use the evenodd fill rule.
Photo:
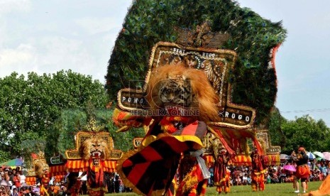
<svg viewBox="0 0 330 196">
<path fill-rule="evenodd" d="M 170 61 L 166 58 L 171 58 L 171 62 L 175 61 L 175 55 L 182 60 L 181 57 L 192 56 L 196 59 L 199 66 L 200 61 L 203 63 L 210 60 L 209 67 L 197 67 L 204 70 L 209 78 L 211 85 L 219 94 L 219 104 L 216 106 L 219 109 L 221 121 L 209 122 L 209 124 L 220 127 L 228 127 L 233 129 L 249 129 L 253 125 L 255 119 L 255 109 L 232 103 L 231 83 L 229 82 L 229 71 L 233 70 L 236 62 L 236 53 L 233 50 L 211 49 L 211 48 L 192 48 L 183 47 L 176 43 L 158 42 L 154 45 L 148 64 L 148 71 L 145 76 L 145 85 L 143 89 L 121 89 L 118 92 L 117 101 L 119 107 L 126 111 L 133 112 L 134 115 L 148 116 L 146 110 L 150 106 L 145 99 L 145 92 L 150 81 L 153 70 L 165 62 Z M 165 60 L 162 61 L 162 58 Z M 167 62 L 168 63 L 168 62 Z M 203 64 L 202 63 L 202 64 Z M 196 68 L 196 67 L 194 67 Z M 153 116 L 153 114 L 149 114 Z"/>
</svg>

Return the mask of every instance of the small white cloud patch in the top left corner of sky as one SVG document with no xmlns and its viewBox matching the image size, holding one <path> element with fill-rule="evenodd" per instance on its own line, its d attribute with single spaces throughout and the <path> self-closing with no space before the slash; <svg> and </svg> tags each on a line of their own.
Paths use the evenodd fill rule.
<svg viewBox="0 0 330 196">
<path fill-rule="evenodd" d="M 11 11 L 29 11 L 30 0 L 0 0 L 0 16 Z"/>
</svg>

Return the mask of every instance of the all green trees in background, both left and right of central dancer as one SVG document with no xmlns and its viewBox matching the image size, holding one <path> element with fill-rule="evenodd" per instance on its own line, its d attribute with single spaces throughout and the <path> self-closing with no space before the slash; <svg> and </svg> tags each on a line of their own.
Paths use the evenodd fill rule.
<svg viewBox="0 0 330 196">
<path fill-rule="evenodd" d="M 52 75 L 29 72 L 27 77 L 13 72 L 0 78 L 0 163 L 21 156 L 21 145 L 28 140 L 46 141 L 47 157 L 64 155 L 65 149 L 75 148 L 75 133 L 86 126 L 90 112 L 114 138 L 114 148 L 132 149 L 133 138 L 144 131 L 116 133 L 109 103 L 101 82 L 72 70 Z M 287 120 L 278 109 L 273 109 L 269 119 L 272 144 L 281 146 L 282 153 L 291 153 L 298 145 L 309 151 L 330 151 L 330 129 L 323 120 L 308 115 Z"/>
</svg>

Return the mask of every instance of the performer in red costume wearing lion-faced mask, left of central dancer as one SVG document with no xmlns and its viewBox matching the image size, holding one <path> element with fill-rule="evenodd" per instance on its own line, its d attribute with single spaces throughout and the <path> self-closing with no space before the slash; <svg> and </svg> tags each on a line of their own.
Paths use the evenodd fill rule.
<svg viewBox="0 0 330 196">
<path fill-rule="evenodd" d="M 109 133 L 99 132 L 98 129 L 79 131 L 77 143 L 79 145 L 76 145 L 75 150 L 65 151 L 66 156 L 72 158 L 66 163 L 66 168 L 70 171 L 68 190 L 72 195 L 78 195 L 82 186 L 81 178 L 87 175 L 89 195 L 104 195 L 108 191 L 105 173 L 114 168 L 110 160 Z"/>
</svg>

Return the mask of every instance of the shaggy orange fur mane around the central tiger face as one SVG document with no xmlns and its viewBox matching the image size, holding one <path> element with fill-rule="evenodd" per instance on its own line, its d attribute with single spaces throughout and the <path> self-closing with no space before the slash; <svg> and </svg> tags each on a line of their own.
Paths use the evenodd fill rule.
<svg viewBox="0 0 330 196">
<path fill-rule="evenodd" d="M 147 88 L 146 99 L 150 106 L 155 109 L 162 105 L 162 100 L 158 96 L 160 91 L 158 82 L 177 78 L 178 81 L 189 81 L 192 93 L 192 104 L 190 108 L 199 109 L 199 121 L 217 121 L 218 109 L 216 104 L 219 102 L 219 95 L 216 94 L 213 87 L 202 70 L 185 67 L 184 63 L 179 65 L 164 65 L 156 68 L 150 77 Z"/>
</svg>

